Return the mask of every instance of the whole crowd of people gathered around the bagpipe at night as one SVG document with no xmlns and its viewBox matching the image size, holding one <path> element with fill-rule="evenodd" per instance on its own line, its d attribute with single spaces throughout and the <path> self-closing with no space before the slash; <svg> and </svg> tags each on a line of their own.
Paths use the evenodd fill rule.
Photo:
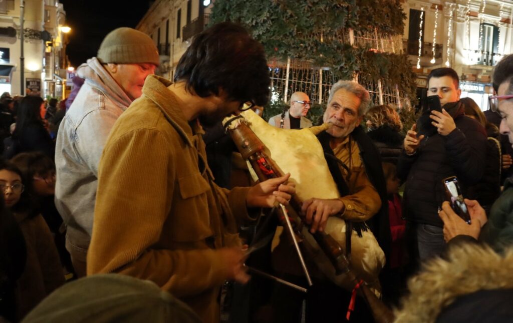
<svg viewBox="0 0 513 323">
<path fill-rule="evenodd" d="M 262 45 L 222 23 L 195 36 L 173 80 L 153 75 L 159 61 L 149 36 L 118 28 L 66 100 L 0 97 L 0 321 L 379 321 L 361 284 L 398 322 L 513 317 L 513 55 L 494 69 L 485 113 L 460 97 L 455 70 L 433 69 L 441 109 L 422 105 L 407 126 L 357 82 L 332 85 L 316 145 L 340 197 L 301 201 L 295 226 L 317 239 L 343 219 L 356 268 L 369 255 L 360 239 L 376 241 L 376 280 L 354 290 L 311 257 L 311 239 L 294 248 L 282 233 L 277 207 L 296 207 L 299 178 L 255 181 L 221 124 L 268 103 Z M 268 123 L 312 127 L 310 106 L 294 92 Z"/>
</svg>

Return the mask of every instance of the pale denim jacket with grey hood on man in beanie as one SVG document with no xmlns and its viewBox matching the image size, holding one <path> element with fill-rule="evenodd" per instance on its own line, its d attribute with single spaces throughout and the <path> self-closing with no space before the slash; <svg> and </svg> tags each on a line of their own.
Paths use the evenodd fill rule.
<svg viewBox="0 0 513 323">
<path fill-rule="evenodd" d="M 103 147 L 132 100 L 95 57 L 78 67 L 77 73 L 85 83 L 66 112 L 56 140 L 55 206 L 67 225 L 67 244 L 86 253 Z"/>
</svg>

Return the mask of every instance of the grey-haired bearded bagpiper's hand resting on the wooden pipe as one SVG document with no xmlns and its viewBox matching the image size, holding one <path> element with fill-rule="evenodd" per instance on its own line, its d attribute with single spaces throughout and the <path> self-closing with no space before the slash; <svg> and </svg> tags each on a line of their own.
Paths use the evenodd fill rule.
<svg viewBox="0 0 513 323">
<path fill-rule="evenodd" d="M 323 232 L 328 218 L 343 212 L 344 208 L 344 203 L 337 198 L 310 198 L 303 202 L 301 211 L 305 214 L 306 223 L 310 225 L 310 232 L 315 233 L 317 230 Z"/>
</svg>

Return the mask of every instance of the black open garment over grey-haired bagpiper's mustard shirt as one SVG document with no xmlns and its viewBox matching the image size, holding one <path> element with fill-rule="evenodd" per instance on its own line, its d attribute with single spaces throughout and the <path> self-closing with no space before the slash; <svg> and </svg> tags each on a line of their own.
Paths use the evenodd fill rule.
<svg viewBox="0 0 513 323">
<path fill-rule="evenodd" d="M 333 159 L 333 157 L 330 157 L 334 156 L 333 150 L 331 150 L 329 147 L 329 140 L 331 136 L 323 131 L 317 137 L 319 138 L 319 142 L 323 147 L 329 171 L 333 176 L 335 183 L 337 184 L 340 195 L 348 195 L 349 189 L 344 180 L 344 177 L 342 176 L 339 164 L 336 160 Z M 374 186 L 380 195 L 381 209 L 376 215 L 368 219 L 366 224 L 369 226 L 370 230 L 378 240 L 378 244 L 385 253 L 385 257 L 388 259 L 390 255 L 391 234 L 390 223 L 388 220 L 386 181 L 383 176 L 380 154 L 376 146 L 374 146 L 372 143 L 372 140 L 367 136 L 361 126 L 354 128 L 353 132 L 351 133 L 351 137 L 358 144 L 358 148 L 360 149 L 360 156 L 362 157 L 367 177 L 369 178 L 372 186 Z M 360 229 L 357 223 L 353 223 L 353 225 L 355 229 Z"/>
</svg>

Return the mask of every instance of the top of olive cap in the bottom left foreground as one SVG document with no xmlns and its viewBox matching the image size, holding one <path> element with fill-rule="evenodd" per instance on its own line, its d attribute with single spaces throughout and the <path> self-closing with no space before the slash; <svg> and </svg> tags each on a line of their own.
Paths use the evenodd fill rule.
<svg viewBox="0 0 513 323">
<path fill-rule="evenodd" d="M 201 323 L 201 319 L 149 280 L 100 274 L 56 289 L 23 319 L 23 323 L 46 322 Z"/>
</svg>

